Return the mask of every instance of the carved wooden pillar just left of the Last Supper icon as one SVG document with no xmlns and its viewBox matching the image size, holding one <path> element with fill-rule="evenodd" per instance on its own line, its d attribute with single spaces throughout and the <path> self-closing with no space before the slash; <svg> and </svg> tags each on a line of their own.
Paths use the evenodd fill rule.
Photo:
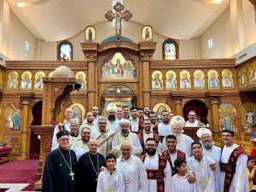
<svg viewBox="0 0 256 192">
<path fill-rule="evenodd" d="M 98 43 L 81 43 L 85 59 L 88 65 L 88 108 L 90 110 L 93 106 L 98 106 L 98 85 L 97 85 L 97 51 Z"/>
</svg>

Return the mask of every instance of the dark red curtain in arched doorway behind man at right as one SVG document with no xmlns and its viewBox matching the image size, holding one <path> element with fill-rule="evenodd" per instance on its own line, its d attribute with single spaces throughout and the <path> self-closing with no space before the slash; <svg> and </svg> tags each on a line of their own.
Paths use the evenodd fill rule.
<svg viewBox="0 0 256 192">
<path fill-rule="evenodd" d="M 191 100 L 187 102 L 184 107 L 183 107 L 183 117 L 185 120 L 188 120 L 188 114 L 189 111 L 195 111 L 197 116 L 200 117 L 201 122 L 204 123 L 205 125 L 208 124 L 207 122 L 207 114 L 208 114 L 208 108 L 204 102 L 201 102 L 199 100 Z"/>
</svg>

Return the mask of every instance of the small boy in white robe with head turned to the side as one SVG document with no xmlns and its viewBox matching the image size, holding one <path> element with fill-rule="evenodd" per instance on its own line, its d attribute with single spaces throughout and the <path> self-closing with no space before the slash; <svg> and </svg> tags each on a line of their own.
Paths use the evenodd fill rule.
<svg viewBox="0 0 256 192">
<path fill-rule="evenodd" d="M 172 192 L 196 192 L 195 183 L 189 183 L 187 174 L 187 163 L 184 159 L 174 161 L 177 174 L 172 177 Z"/>
</svg>

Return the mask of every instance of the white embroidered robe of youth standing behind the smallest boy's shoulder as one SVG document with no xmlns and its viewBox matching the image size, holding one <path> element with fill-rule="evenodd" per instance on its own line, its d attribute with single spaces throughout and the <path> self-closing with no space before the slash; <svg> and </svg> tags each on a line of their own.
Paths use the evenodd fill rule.
<svg viewBox="0 0 256 192">
<path fill-rule="evenodd" d="M 188 172 L 195 173 L 196 192 L 215 192 L 214 173 L 210 165 L 215 164 L 211 157 L 204 157 L 196 160 L 194 156 L 187 160 Z"/>
</svg>

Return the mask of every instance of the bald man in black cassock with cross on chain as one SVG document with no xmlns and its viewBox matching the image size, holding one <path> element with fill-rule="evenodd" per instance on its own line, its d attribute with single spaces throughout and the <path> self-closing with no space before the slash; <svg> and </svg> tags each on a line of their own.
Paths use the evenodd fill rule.
<svg viewBox="0 0 256 192">
<path fill-rule="evenodd" d="M 98 141 L 90 139 L 89 152 L 79 158 L 77 192 L 96 192 L 98 177 L 106 161 L 102 154 L 97 153 Z"/>
</svg>

